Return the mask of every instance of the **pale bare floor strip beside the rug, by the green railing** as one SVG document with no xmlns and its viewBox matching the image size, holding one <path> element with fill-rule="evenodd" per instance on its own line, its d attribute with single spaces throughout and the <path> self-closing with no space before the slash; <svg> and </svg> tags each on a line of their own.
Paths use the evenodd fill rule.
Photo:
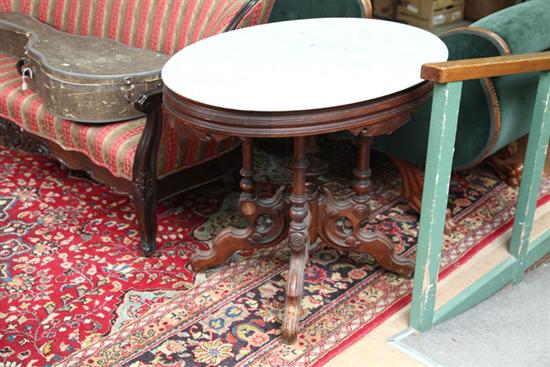
<svg viewBox="0 0 550 367">
<path fill-rule="evenodd" d="M 550 176 L 550 147 L 545 163 L 545 173 Z M 537 209 L 533 235 L 550 227 L 550 203 Z M 489 270 L 504 261 L 509 255 L 507 252 L 511 230 L 504 233 L 483 250 L 477 253 L 470 261 L 455 270 L 437 288 L 436 308 L 467 288 L 481 278 Z M 408 328 L 410 306 L 403 308 L 387 319 L 380 326 L 372 330 L 349 348 L 330 360 L 327 367 L 407 367 L 424 366 L 422 363 L 393 347 L 388 339 Z"/>
</svg>

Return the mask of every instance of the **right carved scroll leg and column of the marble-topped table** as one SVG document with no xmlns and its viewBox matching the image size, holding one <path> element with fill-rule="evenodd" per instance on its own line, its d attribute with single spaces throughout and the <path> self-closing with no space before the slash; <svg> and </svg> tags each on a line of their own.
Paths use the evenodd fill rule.
<svg viewBox="0 0 550 367">
<path fill-rule="evenodd" d="M 414 261 L 396 255 L 393 242 L 383 233 L 364 229 L 363 223 L 371 214 L 368 201 L 371 191 L 369 158 L 372 138 L 363 130 L 357 142 L 357 167 L 353 171 L 354 194 L 336 198 L 328 189 L 324 189 L 326 202 L 320 209 L 319 234 L 328 246 L 368 253 L 384 268 L 410 276 L 414 271 Z"/>
</svg>

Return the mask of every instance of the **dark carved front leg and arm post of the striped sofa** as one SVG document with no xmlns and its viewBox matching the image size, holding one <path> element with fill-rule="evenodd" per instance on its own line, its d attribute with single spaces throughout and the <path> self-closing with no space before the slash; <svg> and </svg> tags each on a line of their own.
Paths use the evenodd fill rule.
<svg viewBox="0 0 550 367">
<path fill-rule="evenodd" d="M 133 201 L 141 232 L 140 251 L 151 256 L 157 235 L 157 152 L 162 134 L 162 90 L 140 95 L 134 105 L 147 114 L 133 167 Z"/>
</svg>

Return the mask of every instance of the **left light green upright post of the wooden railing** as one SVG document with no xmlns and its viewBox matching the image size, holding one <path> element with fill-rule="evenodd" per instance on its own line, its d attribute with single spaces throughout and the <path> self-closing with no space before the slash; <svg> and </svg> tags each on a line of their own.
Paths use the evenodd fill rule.
<svg viewBox="0 0 550 367">
<path fill-rule="evenodd" d="M 436 84 L 413 284 L 411 326 L 432 326 L 462 82 Z"/>
</svg>

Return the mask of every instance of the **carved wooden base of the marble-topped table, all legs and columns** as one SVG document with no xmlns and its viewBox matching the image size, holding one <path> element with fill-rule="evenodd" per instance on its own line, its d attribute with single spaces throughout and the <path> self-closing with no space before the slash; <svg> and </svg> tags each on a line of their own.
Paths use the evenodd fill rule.
<svg viewBox="0 0 550 367">
<path fill-rule="evenodd" d="M 365 129 L 357 139 L 358 157 L 353 172 L 352 195 L 336 197 L 326 188 L 319 194 L 314 182 L 306 182 L 306 138 L 296 137 L 291 165 L 292 190 L 287 195 L 285 187 L 281 186 L 267 199 L 258 199 L 254 194 L 251 140 L 243 139 L 240 182 L 243 192 L 239 204 L 247 226 L 225 229 L 216 236 L 210 250 L 199 251 L 191 259 L 193 269 L 200 271 L 224 263 L 236 251 L 273 246 L 288 236 L 290 267 L 282 327 L 283 339 L 288 344 L 296 341 L 302 310 L 304 268 L 309 244 L 317 237 L 338 250 L 368 253 L 395 273 L 410 276 L 414 270 L 414 261 L 394 254 L 394 244 L 386 235 L 364 228 L 371 215 L 369 156 L 372 138 Z"/>
</svg>

